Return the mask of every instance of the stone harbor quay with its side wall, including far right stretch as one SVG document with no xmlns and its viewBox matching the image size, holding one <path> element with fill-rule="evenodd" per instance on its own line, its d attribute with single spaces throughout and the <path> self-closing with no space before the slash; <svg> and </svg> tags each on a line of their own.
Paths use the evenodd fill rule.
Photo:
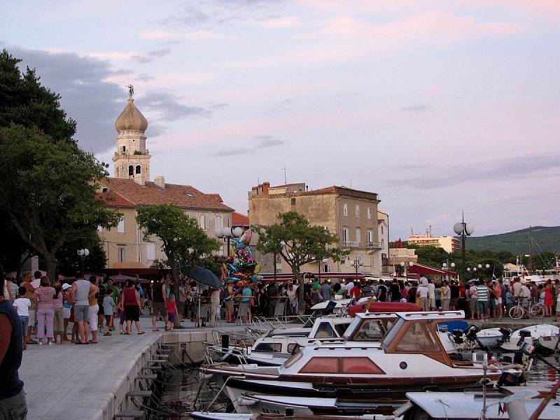
<svg viewBox="0 0 560 420">
<path fill-rule="evenodd" d="M 138 392 L 149 388 L 151 371 L 146 367 L 158 364 L 153 360 L 164 358 L 165 362 L 160 363 L 164 368 L 166 363 L 200 363 L 204 360 L 204 342 L 213 341 L 214 331 L 241 333 L 248 326 L 224 322 L 214 328 L 200 328 L 184 321 L 183 328 L 175 332 L 154 332 L 150 318 L 140 319 L 146 331 L 144 335 L 135 332 L 119 335 L 116 331 L 111 337 L 99 337 L 98 344 L 87 346 L 27 346 L 20 367 L 29 411 L 27 419 L 131 418 L 139 410 L 141 392 Z M 469 322 L 481 329 L 518 330 L 535 323 L 549 323 L 549 320 L 501 318 L 484 323 Z"/>
</svg>

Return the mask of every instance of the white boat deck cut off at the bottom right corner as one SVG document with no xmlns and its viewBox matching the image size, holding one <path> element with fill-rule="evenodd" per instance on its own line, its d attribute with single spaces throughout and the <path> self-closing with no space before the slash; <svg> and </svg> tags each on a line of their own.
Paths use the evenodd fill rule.
<svg viewBox="0 0 560 420">
<path fill-rule="evenodd" d="M 540 389 L 512 386 L 485 394 L 479 391 L 407 392 L 409 402 L 394 414 L 402 416 L 402 420 L 527 420 L 549 391 L 542 386 Z M 538 419 L 560 419 L 560 405 L 554 398 L 547 403 Z"/>
</svg>

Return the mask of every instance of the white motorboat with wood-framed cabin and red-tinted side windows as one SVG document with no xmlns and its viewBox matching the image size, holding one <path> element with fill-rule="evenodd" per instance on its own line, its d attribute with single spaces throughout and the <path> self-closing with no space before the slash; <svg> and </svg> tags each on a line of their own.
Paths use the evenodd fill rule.
<svg viewBox="0 0 560 420">
<path fill-rule="evenodd" d="M 484 370 L 481 364 L 452 360 L 445 351 L 437 324 L 464 316 L 463 311 L 398 313 L 388 328 L 384 319 L 391 314 L 356 314 L 344 343 L 304 346 L 280 367 L 210 365 L 201 372 L 213 375 L 237 412 L 250 411 L 239 404 L 248 392 L 371 402 L 498 379 L 497 365 Z"/>
</svg>

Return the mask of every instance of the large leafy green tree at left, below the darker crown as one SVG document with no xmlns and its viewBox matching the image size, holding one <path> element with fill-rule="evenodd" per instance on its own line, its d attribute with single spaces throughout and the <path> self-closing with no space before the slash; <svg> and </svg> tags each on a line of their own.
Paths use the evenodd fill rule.
<svg viewBox="0 0 560 420">
<path fill-rule="evenodd" d="M 0 209 L 43 258 L 51 279 L 66 241 L 118 222 L 120 215 L 95 197 L 106 175 L 104 164 L 73 143 L 37 127 L 0 127 Z"/>
</svg>

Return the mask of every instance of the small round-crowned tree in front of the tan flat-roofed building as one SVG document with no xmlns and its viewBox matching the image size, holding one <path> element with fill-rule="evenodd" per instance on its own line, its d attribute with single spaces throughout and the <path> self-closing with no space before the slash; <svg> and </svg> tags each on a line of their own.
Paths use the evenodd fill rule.
<svg viewBox="0 0 560 420">
<path fill-rule="evenodd" d="M 336 243 L 338 236 L 332 235 L 323 226 L 311 226 L 307 218 L 295 211 L 281 213 L 278 218 L 280 223 L 266 229 L 253 227 L 260 235 L 257 249 L 262 253 L 281 255 L 290 266 L 300 285 L 297 299 L 298 312 L 303 314 L 305 311 L 304 284 L 300 267 L 322 258 L 342 261 L 349 251 L 331 248 L 330 244 Z"/>
</svg>

